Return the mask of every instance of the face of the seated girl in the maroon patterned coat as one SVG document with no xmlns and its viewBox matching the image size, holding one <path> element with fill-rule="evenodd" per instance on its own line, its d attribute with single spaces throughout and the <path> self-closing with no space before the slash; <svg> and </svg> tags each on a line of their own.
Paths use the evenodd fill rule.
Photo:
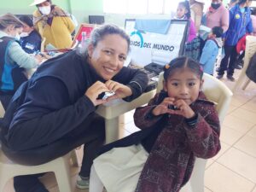
<svg viewBox="0 0 256 192">
<path fill-rule="evenodd" d="M 178 68 L 164 82 L 164 90 L 167 91 L 169 97 L 175 100 L 183 99 L 190 105 L 197 99 L 202 84 L 203 80 L 188 67 Z"/>
</svg>

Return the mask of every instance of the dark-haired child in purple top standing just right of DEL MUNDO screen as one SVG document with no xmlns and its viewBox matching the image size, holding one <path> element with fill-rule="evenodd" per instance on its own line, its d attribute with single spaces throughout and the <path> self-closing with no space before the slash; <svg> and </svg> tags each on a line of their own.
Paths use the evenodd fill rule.
<svg viewBox="0 0 256 192">
<path fill-rule="evenodd" d="M 196 38 L 195 23 L 193 20 L 191 20 L 190 8 L 189 8 L 188 1 L 178 3 L 176 19 L 177 20 L 189 20 L 189 37 L 188 37 L 187 42 L 191 42 L 194 38 Z"/>
</svg>

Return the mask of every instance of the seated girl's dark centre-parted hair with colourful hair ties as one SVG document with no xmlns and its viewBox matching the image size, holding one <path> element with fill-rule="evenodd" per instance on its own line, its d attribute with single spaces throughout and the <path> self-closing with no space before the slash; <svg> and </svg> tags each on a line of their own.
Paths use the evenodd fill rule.
<svg viewBox="0 0 256 192">
<path fill-rule="evenodd" d="M 202 79 L 203 70 L 200 63 L 186 56 L 179 56 L 164 67 L 164 79 L 167 80 L 170 76 L 172 76 L 176 69 L 186 67 L 188 67 L 192 72 L 197 74 L 200 79 Z"/>
</svg>

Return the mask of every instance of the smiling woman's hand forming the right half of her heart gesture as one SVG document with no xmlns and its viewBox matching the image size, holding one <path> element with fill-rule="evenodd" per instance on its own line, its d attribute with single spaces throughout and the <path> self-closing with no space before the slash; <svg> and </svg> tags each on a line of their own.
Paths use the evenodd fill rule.
<svg viewBox="0 0 256 192">
<path fill-rule="evenodd" d="M 120 84 L 113 80 L 108 80 L 105 85 L 108 90 L 113 90 L 115 93 L 113 96 L 108 97 L 108 101 L 116 98 L 125 98 L 126 96 L 131 96 L 132 94 L 131 88 L 125 84 Z"/>
</svg>

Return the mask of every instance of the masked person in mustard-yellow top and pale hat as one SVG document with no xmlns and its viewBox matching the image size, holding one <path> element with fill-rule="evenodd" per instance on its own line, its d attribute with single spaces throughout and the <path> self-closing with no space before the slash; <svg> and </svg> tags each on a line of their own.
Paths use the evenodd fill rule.
<svg viewBox="0 0 256 192">
<path fill-rule="evenodd" d="M 33 23 L 41 37 L 46 38 L 44 44 L 51 44 L 56 49 L 70 48 L 75 29 L 70 14 L 52 4 L 51 0 L 34 0 L 30 6 L 33 5 L 38 8 L 33 13 Z"/>
</svg>

